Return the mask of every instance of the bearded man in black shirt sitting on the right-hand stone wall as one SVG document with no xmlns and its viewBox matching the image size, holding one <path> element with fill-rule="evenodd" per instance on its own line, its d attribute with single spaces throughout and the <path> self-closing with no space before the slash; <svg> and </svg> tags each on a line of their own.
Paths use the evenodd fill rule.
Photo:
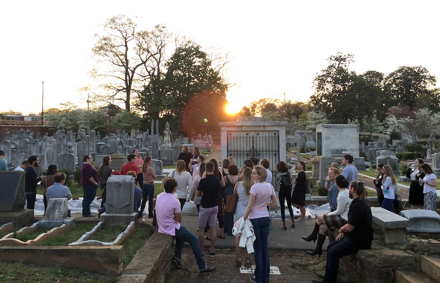
<svg viewBox="0 0 440 283">
<path fill-rule="evenodd" d="M 339 259 L 357 252 L 370 249 L 373 241 L 373 217 L 371 208 L 366 203 L 364 183 L 352 181 L 348 194 L 353 201 L 348 210 L 348 223 L 339 229 L 339 236 L 327 246 L 327 264 L 323 280 L 313 283 L 336 283 Z"/>
</svg>

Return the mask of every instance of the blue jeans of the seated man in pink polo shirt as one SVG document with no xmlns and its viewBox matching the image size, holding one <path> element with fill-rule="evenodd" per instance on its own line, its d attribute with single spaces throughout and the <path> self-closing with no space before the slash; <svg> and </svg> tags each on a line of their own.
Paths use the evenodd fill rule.
<svg viewBox="0 0 440 283">
<path fill-rule="evenodd" d="M 200 271 L 206 268 L 206 262 L 203 258 L 202 250 L 200 249 L 199 239 L 192 234 L 185 226 L 180 226 L 180 229 L 176 230 L 176 249 L 174 251 L 173 258 L 180 261 L 182 259 L 182 248 L 185 242 L 190 243 L 192 253 L 194 254 L 195 261 Z"/>
</svg>

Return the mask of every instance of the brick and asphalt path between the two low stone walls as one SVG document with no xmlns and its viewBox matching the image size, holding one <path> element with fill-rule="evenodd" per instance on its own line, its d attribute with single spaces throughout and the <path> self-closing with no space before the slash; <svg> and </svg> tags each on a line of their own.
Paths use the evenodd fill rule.
<svg viewBox="0 0 440 283">
<path fill-rule="evenodd" d="M 272 220 L 273 230 L 269 232 L 268 246 L 270 265 L 277 266 L 281 275 L 272 275 L 270 282 L 311 282 L 319 279 L 309 266 L 314 266 L 318 274 L 324 274 L 325 253 L 321 256 L 309 256 L 307 249 L 313 249 L 316 243 L 307 243 L 301 236 L 307 236 L 313 229 L 315 220 L 307 220 L 306 223 L 297 223 L 295 228 L 288 228 L 286 231 L 281 229 L 281 220 Z M 184 215 L 182 225 L 186 226 L 194 235 L 197 235 L 198 216 Z M 217 232 L 220 232 L 217 228 Z M 216 239 L 215 257 L 207 256 L 207 264 L 214 266 L 217 271 L 201 276 L 198 267 L 192 256 L 192 250 L 188 244 L 185 245 L 182 264 L 185 269 L 174 269 L 167 275 L 167 283 L 180 282 L 231 282 L 241 283 L 250 282 L 252 274 L 241 274 L 240 269 L 235 266 L 234 237 L 225 235 L 225 239 Z M 325 241 L 324 248 L 328 245 Z M 210 241 L 205 241 L 204 253 L 209 251 Z M 243 250 L 243 255 L 245 251 Z M 243 256 L 242 260 L 245 258 Z M 252 259 L 253 262 L 253 259 Z M 321 264 L 319 264 L 321 263 Z M 318 265 L 316 265 L 318 264 Z"/>
</svg>

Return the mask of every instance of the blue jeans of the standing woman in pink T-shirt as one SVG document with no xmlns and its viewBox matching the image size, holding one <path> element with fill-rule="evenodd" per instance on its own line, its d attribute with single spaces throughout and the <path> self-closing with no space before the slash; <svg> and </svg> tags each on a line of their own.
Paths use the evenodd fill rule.
<svg viewBox="0 0 440 283">
<path fill-rule="evenodd" d="M 269 282 L 269 217 L 250 219 L 255 233 L 253 247 L 255 250 L 255 280 L 257 283 Z"/>
</svg>

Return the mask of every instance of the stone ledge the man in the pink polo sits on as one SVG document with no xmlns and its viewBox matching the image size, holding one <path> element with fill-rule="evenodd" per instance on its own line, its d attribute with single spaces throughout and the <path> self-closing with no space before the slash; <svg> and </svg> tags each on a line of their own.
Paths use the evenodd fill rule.
<svg viewBox="0 0 440 283">
<path fill-rule="evenodd" d="M 155 231 L 119 276 L 121 283 L 156 283 L 172 258 L 174 237 Z"/>
</svg>

